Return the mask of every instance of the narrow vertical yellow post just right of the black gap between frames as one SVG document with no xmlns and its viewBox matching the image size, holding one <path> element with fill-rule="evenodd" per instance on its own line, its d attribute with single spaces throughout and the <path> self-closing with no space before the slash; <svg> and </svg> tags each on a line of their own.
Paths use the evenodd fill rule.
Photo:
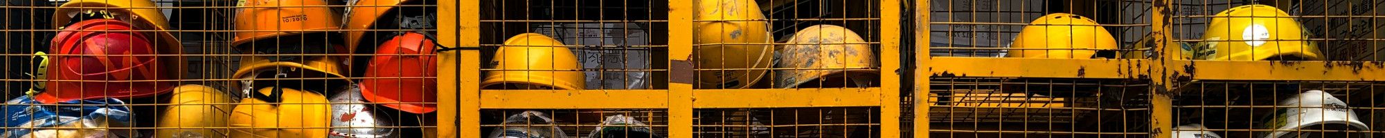
<svg viewBox="0 0 1385 138">
<path fill-rule="evenodd" d="M 933 59 L 931 55 L 928 55 L 928 52 L 929 52 L 928 43 L 932 41 L 929 39 L 929 36 L 928 36 L 928 34 L 931 34 L 931 33 L 928 33 L 931 30 L 928 22 L 932 22 L 931 21 L 932 19 L 931 15 L 932 15 L 932 12 L 929 12 L 929 1 L 928 0 L 914 0 L 914 32 L 911 32 L 911 33 L 914 33 L 914 50 L 915 50 L 914 51 L 914 59 L 915 59 L 915 62 L 914 62 L 915 63 L 914 65 L 915 66 L 914 68 L 914 87 L 913 87 L 913 92 L 914 92 L 914 109 L 913 109 L 914 110 L 914 130 L 913 130 L 913 132 L 914 132 L 914 138 L 928 138 L 929 137 L 928 135 L 928 130 L 931 127 L 929 126 L 929 120 L 928 120 L 929 119 L 928 117 L 928 110 L 929 110 L 928 108 L 929 108 L 929 105 L 933 105 L 933 95 L 929 94 L 928 91 L 931 90 L 929 86 L 931 86 L 932 81 L 929 81 L 929 79 L 928 79 L 929 75 L 922 75 L 925 72 L 929 72 L 931 68 L 927 68 L 927 66 L 932 65 L 932 59 Z"/>
</svg>

